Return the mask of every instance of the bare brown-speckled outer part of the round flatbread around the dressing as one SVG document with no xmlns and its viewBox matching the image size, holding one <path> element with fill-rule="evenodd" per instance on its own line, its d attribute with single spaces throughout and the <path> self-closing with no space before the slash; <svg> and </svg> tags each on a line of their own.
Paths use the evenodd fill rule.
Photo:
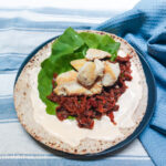
<svg viewBox="0 0 166 166">
<path fill-rule="evenodd" d="M 43 143 L 44 145 L 58 149 L 63 151 L 71 154 L 93 154 L 102 152 L 106 148 L 110 148 L 117 143 L 122 142 L 126 137 L 128 137 L 138 126 L 141 123 L 147 105 L 147 84 L 145 80 L 145 75 L 143 72 L 142 64 L 139 59 L 134 51 L 134 49 L 122 38 L 118 38 L 114 34 L 101 32 L 101 31 L 86 31 L 91 33 L 98 33 L 98 34 L 108 34 L 114 38 L 115 41 L 121 42 L 121 49 L 132 55 L 132 63 L 135 64 L 137 70 L 139 71 L 138 74 L 142 77 L 142 86 L 143 86 L 143 96 L 139 100 L 139 104 L 137 108 L 134 111 L 132 116 L 135 125 L 133 127 L 125 127 L 121 128 L 123 136 L 116 137 L 113 141 L 104 141 L 104 139 L 92 139 L 92 138 L 83 138 L 81 139 L 80 144 L 76 146 L 71 146 L 70 144 L 63 142 L 61 138 L 55 137 L 52 133 L 48 132 L 44 127 L 42 127 L 38 122 L 35 122 L 33 117 L 33 106 L 31 101 L 31 93 L 33 90 L 30 85 L 30 75 L 32 72 L 40 71 L 41 62 L 50 55 L 51 52 L 51 43 L 43 46 L 24 66 L 22 70 L 15 87 L 14 87 L 14 106 L 18 114 L 18 118 L 27 132 L 33 136 L 37 141 Z M 34 76 L 38 76 L 38 72 L 33 73 Z M 37 77 L 35 77 L 37 79 Z M 72 135 L 72 133 L 71 133 Z"/>
</svg>

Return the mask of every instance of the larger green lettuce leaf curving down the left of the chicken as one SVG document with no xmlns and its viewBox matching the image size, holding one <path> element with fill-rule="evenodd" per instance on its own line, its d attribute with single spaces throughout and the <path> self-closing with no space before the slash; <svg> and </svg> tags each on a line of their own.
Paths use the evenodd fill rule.
<svg viewBox="0 0 166 166">
<path fill-rule="evenodd" d="M 71 28 L 69 28 L 55 42 L 52 44 L 52 53 L 49 59 L 41 64 L 42 70 L 38 75 L 38 90 L 40 98 L 46 105 L 48 114 L 55 114 L 56 103 L 46 98 L 52 92 L 53 73 L 63 73 L 72 70 L 70 62 L 75 59 L 82 59 L 82 52 L 75 52 L 84 44 L 82 38 Z"/>
</svg>

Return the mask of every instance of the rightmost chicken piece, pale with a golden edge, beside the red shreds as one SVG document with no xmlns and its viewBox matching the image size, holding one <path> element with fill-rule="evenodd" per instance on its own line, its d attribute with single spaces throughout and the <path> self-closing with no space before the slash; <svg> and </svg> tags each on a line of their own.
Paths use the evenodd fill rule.
<svg viewBox="0 0 166 166">
<path fill-rule="evenodd" d="M 102 79 L 103 86 L 111 86 L 113 85 L 121 73 L 120 64 L 118 63 L 111 63 L 105 61 L 104 63 L 104 76 Z"/>
</svg>

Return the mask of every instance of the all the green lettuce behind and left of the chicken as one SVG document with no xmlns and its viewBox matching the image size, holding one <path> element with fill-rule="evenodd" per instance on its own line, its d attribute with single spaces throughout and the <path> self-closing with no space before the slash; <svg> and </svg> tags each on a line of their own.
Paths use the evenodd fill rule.
<svg viewBox="0 0 166 166">
<path fill-rule="evenodd" d="M 46 113 L 54 115 L 56 103 L 46 98 L 52 92 L 53 73 L 61 74 L 72 70 L 70 62 L 83 59 L 89 48 L 101 49 L 112 54 L 112 60 L 116 58 L 120 43 L 108 35 L 100 35 L 87 32 L 77 33 L 72 28 L 53 42 L 51 55 L 41 64 L 38 75 L 38 90 L 40 98 L 46 105 Z M 70 116 L 70 120 L 74 117 Z"/>
</svg>

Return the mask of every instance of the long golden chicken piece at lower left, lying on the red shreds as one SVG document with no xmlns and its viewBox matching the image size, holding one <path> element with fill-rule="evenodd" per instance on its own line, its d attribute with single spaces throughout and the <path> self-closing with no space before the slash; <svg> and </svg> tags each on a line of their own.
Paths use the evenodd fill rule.
<svg viewBox="0 0 166 166">
<path fill-rule="evenodd" d="M 70 71 L 58 76 L 58 86 L 54 93 L 58 95 L 93 95 L 102 92 L 102 82 L 97 81 L 91 89 L 85 89 L 77 82 L 77 72 Z M 68 82 L 66 82 L 68 81 Z"/>
</svg>

